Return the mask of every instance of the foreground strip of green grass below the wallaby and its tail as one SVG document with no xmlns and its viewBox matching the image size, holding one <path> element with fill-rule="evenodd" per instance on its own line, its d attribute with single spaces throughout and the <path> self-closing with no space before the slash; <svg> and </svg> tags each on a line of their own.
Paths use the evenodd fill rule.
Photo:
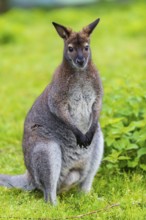
<svg viewBox="0 0 146 220">
<path fill-rule="evenodd" d="M 78 193 L 77 189 L 58 196 L 58 206 L 44 203 L 42 193 L 2 189 L 0 191 L 0 216 L 17 218 L 67 218 L 101 210 L 84 219 L 146 218 L 146 178 L 141 174 L 108 176 L 98 174 L 90 194 Z M 113 208 L 105 207 L 119 204 Z"/>
</svg>

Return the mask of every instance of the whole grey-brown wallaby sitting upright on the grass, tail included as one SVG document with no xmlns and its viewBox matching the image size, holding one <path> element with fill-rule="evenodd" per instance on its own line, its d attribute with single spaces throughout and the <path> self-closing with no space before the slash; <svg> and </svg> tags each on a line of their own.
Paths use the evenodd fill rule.
<svg viewBox="0 0 146 220">
<path fill-rule="evenodd" d="M 24 123 L 26 173 L 0 175 L 0 186 L 40 189 L 53 205 L 57 193 L 74 185 L 90 191 L 104 148 L 99 124 L 102 84 L 89 46 L 99 20 L 80 32 L 53 22 L 64 40 L 63 61 Z"/>
</svg>

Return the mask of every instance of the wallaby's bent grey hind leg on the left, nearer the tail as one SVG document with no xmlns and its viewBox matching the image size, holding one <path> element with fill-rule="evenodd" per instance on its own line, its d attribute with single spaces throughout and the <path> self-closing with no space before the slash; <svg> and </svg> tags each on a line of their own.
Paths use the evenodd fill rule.
<svg viewBox="0 0 146 220">
<path fill-rule="evenodd" d="M 33 175 L 35 184 L 44 193 L 46 202 L 56 204 L 57 183 L 61 170 L 61 150 L 54 141 L 38 143 L 33 151 Z"/>
</svg>

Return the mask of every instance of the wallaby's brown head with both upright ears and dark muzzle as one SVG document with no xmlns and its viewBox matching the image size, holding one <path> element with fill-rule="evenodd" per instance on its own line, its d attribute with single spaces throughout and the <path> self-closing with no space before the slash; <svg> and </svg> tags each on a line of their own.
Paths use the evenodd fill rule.
<svg viewBox="0 0 146 220">
<path fill-rule="evenodd" d="M 85 69 L 91 58 L 90 34 L 99 22 L 99 18 L 84 27 L 80 32 L 74 32 L 53 22 L 59 36 L 64 40 L 64 58 L 76 69 Z"/>
</svg>

